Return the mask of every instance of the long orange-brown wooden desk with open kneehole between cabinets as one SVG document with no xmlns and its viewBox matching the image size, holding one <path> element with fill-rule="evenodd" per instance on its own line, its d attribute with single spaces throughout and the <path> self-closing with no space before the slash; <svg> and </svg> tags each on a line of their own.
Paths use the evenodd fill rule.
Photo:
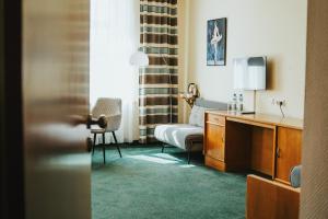
<svg viewBox="0 0 328 219">
<path fill-rule="evenodd" d="M 289 184 L 291 168 L 301 163 L 302 130 L 302 119 L 207 111 L 206 165 L 220 171 L 254 170 Z"/>
</svg>

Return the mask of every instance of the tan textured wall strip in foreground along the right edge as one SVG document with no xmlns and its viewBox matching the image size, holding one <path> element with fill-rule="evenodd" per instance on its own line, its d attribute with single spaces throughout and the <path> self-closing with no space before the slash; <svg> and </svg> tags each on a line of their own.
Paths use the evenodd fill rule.
<svg viewBox="0 0 328 219">
<path fill-rule="evenodd" d="M 328 1 L 308 1 L 300 218 L 328 216 Z"/>
</svg>

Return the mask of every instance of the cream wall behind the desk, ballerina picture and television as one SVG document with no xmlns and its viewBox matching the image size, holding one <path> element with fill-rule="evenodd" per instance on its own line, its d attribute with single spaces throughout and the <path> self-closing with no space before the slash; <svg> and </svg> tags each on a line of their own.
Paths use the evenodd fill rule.
<svg viewBox="0 0 328 219">
<path fill-rule="evenodd" d="M 268 57 L 268 90 L 257 92 L 257 112 L 280 114 L 271 97 L 286 100 L 288 116 L 303 117 L 305 87 L 306 0 L 185 0 L 189 27 L 188 82 L 196 82 L 202 97 L 231 101 L 232 60 Z M 207 67 L 207 21 L 227 18 L 226 66 Z M 244 92 L 246 108 L 253 93 Z"/>
</svg>

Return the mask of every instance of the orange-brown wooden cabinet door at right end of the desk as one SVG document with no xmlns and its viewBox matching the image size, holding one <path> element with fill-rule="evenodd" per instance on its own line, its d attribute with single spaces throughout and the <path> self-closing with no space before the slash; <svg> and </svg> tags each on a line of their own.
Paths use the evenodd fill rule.
<svg viewBox="0 0 328 219">
<path fill-rule="evenodd" d="M 277 140 L 277 180 L 289 183 L 290 171 L 301 164 L 302 130 L 292 128 L 278 128 Z"/>
</svg>

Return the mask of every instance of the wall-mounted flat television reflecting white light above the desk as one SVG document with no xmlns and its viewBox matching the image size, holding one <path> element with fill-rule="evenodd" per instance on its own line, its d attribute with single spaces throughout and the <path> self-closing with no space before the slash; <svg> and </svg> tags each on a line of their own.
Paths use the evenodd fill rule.
<svg viewBox="0 0 328 219">
<path fill-rule="evenodd" d="M 234 58 L 234 89 L 266 90 L 267 57 Z"/>
</svg>

